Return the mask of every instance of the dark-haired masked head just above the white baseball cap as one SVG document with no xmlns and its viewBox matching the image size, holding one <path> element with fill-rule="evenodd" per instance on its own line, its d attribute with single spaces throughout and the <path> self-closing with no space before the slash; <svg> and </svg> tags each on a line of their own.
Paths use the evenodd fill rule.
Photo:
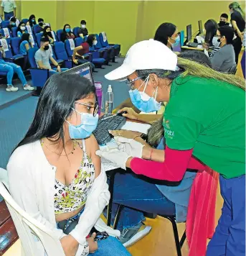
<svg viewBox="0 0 246 256">
<path fill-rule="evenodd" d="M 165 22 L 156 29 L 156 34 L 153 39 L 162 42 L 172 49 L 176 45 L 179 45 L 179 31 L 174 24 Z"/>
</svg>

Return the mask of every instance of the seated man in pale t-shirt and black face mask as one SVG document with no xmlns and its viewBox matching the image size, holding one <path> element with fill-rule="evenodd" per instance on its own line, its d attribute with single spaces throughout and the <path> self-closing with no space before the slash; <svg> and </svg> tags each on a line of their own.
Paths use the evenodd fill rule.
<svg viewBox="0 0 246 256">
<path fill-rule="evenodd" d="M 49 45 L 48 37 L 41 38 L 40 48 L 35 53 L 35 60 L 38 68 L 49 70 L 49 75 L 67 70 L 67 68 L 61 68 L 57 61 L 52 57 L 52 48 Z M 51 67 L 49 60 L 56 68 Z"/>
</svg>

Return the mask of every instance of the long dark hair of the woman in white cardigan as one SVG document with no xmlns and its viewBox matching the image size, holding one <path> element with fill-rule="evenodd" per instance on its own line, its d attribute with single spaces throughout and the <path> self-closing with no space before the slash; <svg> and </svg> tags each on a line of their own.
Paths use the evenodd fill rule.
<svg viewBox="0 0 246 256">
<path fill-rule="evenodd" d="M 75 101 L 95 94 L 95 86 L 77 74 L 57 73 L 44 85 L 31 126 L 17 147 L 41 140 L 44 137 L 58 141 L 64 147 L 63 124 L 72 114 Z"/>
</svg>

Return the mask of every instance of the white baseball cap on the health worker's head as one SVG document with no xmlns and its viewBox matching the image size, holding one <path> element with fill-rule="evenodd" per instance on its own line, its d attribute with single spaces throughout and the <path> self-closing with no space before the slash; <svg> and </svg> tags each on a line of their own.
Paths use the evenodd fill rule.
<svg viewBox="0 0 246 256">
<path fill-rule="evenodd" d="M 111 71 L 108 80 L 126 80 L 136 70 L 162 69 L 176 70 L 177 55 L 162 42 L 150 39 L 137 42 L 127 52 L 123 64 Z"/>
</svg>

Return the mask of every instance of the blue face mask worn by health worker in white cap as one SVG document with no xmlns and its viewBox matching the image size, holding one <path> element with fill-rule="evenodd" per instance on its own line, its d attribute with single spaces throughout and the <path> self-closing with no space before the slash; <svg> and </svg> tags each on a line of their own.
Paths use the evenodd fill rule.
<svg viewBox="0 0 246 256">
<path fill-rule="evenodd" d="M 141 84 L 141 86 L 135 90 L 131 90 L 129 91 L 130 94 L 130 98 L 131 98 L 131 102 L 134 106 L 136 106 L 137 109 L 139 109 L 140 111 L 143 111 L 145 113 L 149 113 L 149 112 L 153 112 L 153 111 L 159 111 L 161 109 L 161 103 L 156 101 L 156 97 L 155 99 L 153 99 L 153 96 L 148 96 L 148 94 L 146 94 L 144 91 L 146 89 L 147 83 L 148 83 L 148 78 L 146 78 L 146 80 L 143 83 L 146 83 L 144 90 L 143 91 L 138 91 L 139 88 L 141 88 L 141 86 L 143 86 L 143 83 Z M 156 88 L 156 95 L 157 95 L 157 88 Z"/>
</svg>

